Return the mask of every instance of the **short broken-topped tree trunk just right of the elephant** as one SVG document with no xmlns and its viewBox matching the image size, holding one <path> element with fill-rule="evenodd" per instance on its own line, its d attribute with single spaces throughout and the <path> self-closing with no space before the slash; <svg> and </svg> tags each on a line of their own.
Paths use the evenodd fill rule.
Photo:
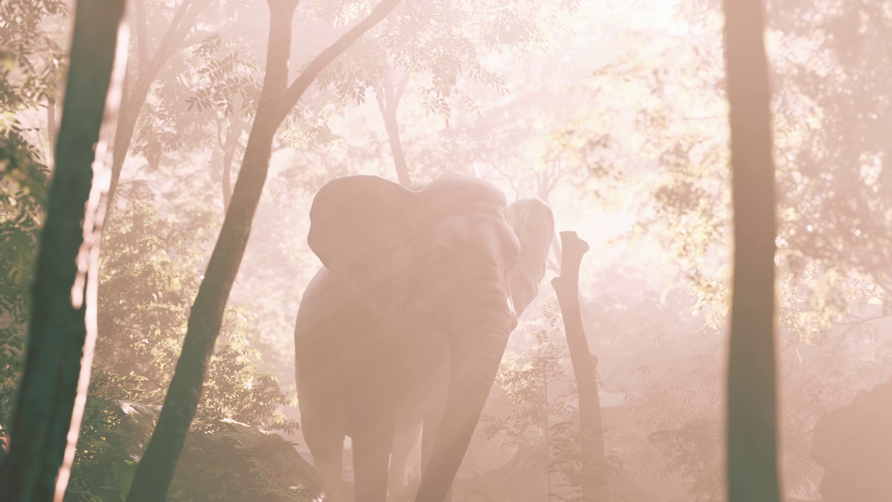
<svg viewBox="0 0 892 502">
<path fill-rule="evenodd" d="M 582 495 L 591 502 L 607 502 L 604 431 L 598 395 L 598 358 L 591 355 L 582 326 L 579 305 L 579 267 L 589 245 L 574 231 L 560 232 L 563 248 L 560 275 L 551 280 L 564 318 L 566 345 L 570 350 L 576 389 L 579 392 L 579 422 L 582 432 Z"/>
</svg>

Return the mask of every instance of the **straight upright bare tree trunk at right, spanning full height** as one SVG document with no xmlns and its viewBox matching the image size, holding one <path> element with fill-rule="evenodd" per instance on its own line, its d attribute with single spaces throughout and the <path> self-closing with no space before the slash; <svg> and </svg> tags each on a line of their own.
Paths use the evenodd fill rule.
<svg viewBox="0 0 892 502">
<path fill-rule="evenodd" d="M 730 502 L 777 502 L 774 163 L 764 5 L 725 0 L 734 286 L 728 359 Z"/>
</svg>

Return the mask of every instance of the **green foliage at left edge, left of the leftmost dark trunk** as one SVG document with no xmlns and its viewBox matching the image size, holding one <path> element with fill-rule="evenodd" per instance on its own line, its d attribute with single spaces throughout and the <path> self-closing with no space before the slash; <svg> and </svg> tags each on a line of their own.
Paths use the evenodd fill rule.
<svg viewBox="0 0 892 502">
<path fill-rule="evenodd" d="M 0 423 L 9 423 L 21 372 L 30 282 L 49 170 L 17 113 L 54 99 L 62 48 L 49 25 L 61 1 L 0 5 Z"/>
</svg>

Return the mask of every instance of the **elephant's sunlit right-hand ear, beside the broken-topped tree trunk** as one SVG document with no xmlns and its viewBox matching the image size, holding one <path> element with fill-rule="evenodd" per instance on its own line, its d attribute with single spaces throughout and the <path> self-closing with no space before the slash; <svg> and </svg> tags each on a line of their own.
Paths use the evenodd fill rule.
<svg viewBox="0 0 892 502">
<path fill-rule="evenodd" d="M 533 302 L 545 277 L 555 219 L 551 208 L 537 198 L 508 205 L 508 225 L 520 241 L 520 255 L 511 271 L 511 300 L 517 315 Z"/>
</svg>

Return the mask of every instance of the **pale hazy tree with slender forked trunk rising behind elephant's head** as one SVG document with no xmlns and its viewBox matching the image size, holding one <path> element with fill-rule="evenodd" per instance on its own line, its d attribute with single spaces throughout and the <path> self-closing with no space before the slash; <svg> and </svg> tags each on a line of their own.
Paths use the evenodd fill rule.
<svg viewBox="0 0 892 502">
<path fill-rule="evenodd" d="M 411 149 L 417 148 L 403 146 L 398 110 L 404 97 L 414 95 L 425 117 L 441 118 L 447 128 L 456 111 L 479 114 L 481 88 L 508 94 L 505 79 L 491 71 L 487 56 L 510 53 L 522 58 L 547 51 L 562 30 L 559 14 L 572 13 L 574 6 L 525 1 L 487 1 L 473 9 L 461 2 L 402 4 L 392 22 L 352 47 L 319 81 L 337 88 L 344 102 L 359 105 L 368 88 L 374 90 L 396 178 L 410 187 L 419 175 L 435 178 L 442 172 L 422 172 L 427 159 L 412 155 Z"/>
</svg>

